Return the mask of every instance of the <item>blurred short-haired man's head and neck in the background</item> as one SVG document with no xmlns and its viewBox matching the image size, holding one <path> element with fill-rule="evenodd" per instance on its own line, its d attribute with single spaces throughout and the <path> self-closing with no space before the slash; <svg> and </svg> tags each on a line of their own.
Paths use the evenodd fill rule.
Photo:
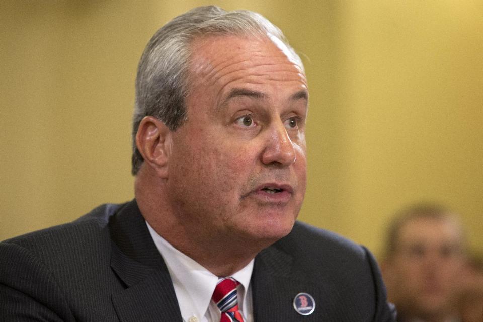
<svg viewBox="0 0 483 322">
<path fill-rule="evenodd" d="M 386 245 L 381 267 L 398 320 L 458 320 L 465 241 L 455 216 L 440 206 L 411 206 L 395 217 Z"/>
</svg>

